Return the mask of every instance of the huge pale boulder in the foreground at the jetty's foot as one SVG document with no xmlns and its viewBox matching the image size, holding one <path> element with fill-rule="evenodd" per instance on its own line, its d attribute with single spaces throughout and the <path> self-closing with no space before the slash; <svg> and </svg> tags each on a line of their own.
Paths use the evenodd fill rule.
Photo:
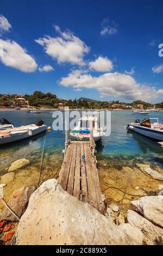
<svg viewBox="0 0 163 256">
<path fill-rule="evenodd" d="M 15 234 L 16 245 L 141 245 L 142 239 L 139 229 L 116 226 L 55 179 L 32 194 Z"/>
</svg>

